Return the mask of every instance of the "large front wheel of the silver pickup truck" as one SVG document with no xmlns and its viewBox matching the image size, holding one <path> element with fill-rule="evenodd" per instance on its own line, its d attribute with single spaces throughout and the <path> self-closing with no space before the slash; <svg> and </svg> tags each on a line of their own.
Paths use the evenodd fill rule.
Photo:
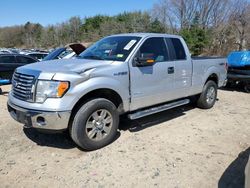
<svg viewBox="0 0 250 188">
<path fill-rule="evenodd" d="M 119 114 L 109 100 L 93 99 L 81 106 L 73 119 L 70 134 L 84 150 L 96 150 L 110 144 L 117 134 Z"/>
</svg>

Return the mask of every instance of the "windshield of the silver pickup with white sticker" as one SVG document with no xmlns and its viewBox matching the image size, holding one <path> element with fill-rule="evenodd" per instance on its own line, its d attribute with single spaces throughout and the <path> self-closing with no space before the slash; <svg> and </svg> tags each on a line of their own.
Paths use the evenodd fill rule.
<svg viewBox="0 0 250 188">
<path fill-rule="evenodd" d="M 84 59 L 125 61 L 140 39 L 141 37 L 135 36 L 107 37 L 87 48 L 79 57 Z"/>
</svg>

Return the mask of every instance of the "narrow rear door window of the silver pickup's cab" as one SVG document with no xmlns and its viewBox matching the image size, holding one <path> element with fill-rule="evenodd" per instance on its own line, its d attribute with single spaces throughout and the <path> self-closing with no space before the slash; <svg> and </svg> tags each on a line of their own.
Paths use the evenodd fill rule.
<svg viewBox="0 0 250 188">
<path fill-rule="evenodd" d="M 166 38 L 169 52 L 171 54 L 171 60 L 185 60 L 186 53 L 184 47 L 178 38 Z"/>
</svg>

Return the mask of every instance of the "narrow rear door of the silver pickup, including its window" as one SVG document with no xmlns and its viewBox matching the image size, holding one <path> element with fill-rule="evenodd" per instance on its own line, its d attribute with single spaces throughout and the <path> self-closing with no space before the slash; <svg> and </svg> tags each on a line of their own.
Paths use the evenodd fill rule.
<svg viewBox="0 0 250 188">
<path fill-rule="evenodd" d="M 174 95 L 177 98 L 186 97 L 189 95 L 189 90 L 192 84 L 192 62 L 185 52 L 182 41 L 179 38 L 165 38 L 170 60 L 174 63 Z"/>
</svg>

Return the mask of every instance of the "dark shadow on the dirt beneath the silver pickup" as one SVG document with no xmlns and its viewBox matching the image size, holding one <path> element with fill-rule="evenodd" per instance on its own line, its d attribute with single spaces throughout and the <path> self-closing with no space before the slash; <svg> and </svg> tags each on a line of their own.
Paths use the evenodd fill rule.
<svg viewBox="0 0 250 188">
<path fill-rule="evenodd" d="M 190 105 L 178 107 L 172 110 L 167 110 L 161 113 L 150 115 L 138 120 L 129 120 L 125 115 L 121 117 L 120 130 L 138 132 L 143 129 L 146 129 L 151 126 L 157 126 L 157 124 L 166 122 L 180 116 L 185 115 L 186 111 L 193 109 L 194 107 Z M 68 132 L 63 133 L 51 133 L 45 131 L 39 131 L 36 129 L 23 129 L 25 135 L 37 143 L 40 146 L 55 147 L 61 149 L 71 149 L 77 147 L 76 144 L 72 141 Z M 120 132 L 118 132 L 116 138 L 117 140 L 120 137 Z M 113 141 L 113 142 L 114 142 Z M 80 149 L 80 148 L 79 148 Z"/>
</svg>

